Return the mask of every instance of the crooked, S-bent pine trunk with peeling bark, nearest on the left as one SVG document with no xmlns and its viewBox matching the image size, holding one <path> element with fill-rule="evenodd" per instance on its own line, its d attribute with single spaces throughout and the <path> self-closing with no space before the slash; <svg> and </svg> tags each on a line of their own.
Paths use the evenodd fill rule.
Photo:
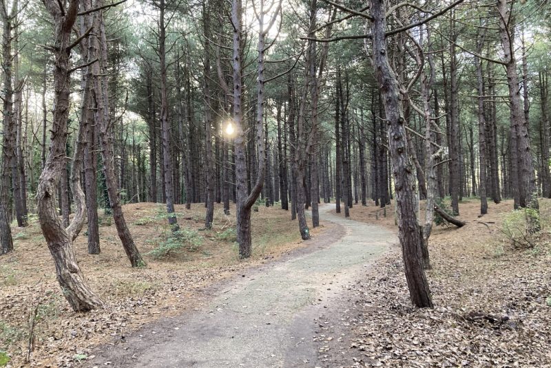
<svg viewBox="0 0 551 368">
<path fill-rule="evenodd" d="M 74 311 L 92 310 L 102 305 L 88 287 L 79 263 L 76 261 L 72 241 L 63 228 L 56 212 L 56 186 L 65 166 L 65 141 L 70 100 L 70 35 L 79 9 L 79 1 L 70 1 L 67 10 L 54 0 L 44 0 L 44 5 L 54 19 L 54 119 L 52 144 L 37 190 L 37 206 L 42 232 L 54 257 L 59 285 L 65 299 Z"/>
</svg>

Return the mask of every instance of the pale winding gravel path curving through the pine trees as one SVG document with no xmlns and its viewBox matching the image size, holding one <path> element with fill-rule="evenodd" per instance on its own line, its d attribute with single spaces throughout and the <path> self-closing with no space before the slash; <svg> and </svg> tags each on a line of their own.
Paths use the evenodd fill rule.
<svg viewBox="0 0 551 368">
<path fill-rule="evenodd" d="M 101 347 L 89 367 L 315 367 L 315 318 L 341 303 L 342 286 L 397 241 L 384 228 L 345 220 L 309 251 L 232 279 L 206 307 L 146 325 Z M 123 342 L 124 341 L 124 342 Z"/>
</svg>

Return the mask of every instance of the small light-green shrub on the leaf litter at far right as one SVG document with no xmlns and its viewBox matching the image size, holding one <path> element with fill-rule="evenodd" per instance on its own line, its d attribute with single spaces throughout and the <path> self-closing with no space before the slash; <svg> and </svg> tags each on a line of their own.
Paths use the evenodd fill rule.
<svg viewBox="0 0 551 368">
<path fill-rule="evenodd" d="M 533 208 L 520 208 L 503 219 L 501 232 L 514 248 L 534 248 L 538 233 L 533 231 L 534 221 L 539 223 L 539 212 Z"/>
</svg>

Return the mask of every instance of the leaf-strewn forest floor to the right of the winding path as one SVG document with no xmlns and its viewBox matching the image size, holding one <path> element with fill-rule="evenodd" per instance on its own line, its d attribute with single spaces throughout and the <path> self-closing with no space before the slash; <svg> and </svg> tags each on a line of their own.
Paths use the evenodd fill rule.
<svg viewBox="0 0 551 368">
<path fill-rule="evenodd" d="M 435 226 L 427 272 L 434 309 L 411 307 L 399 249 L 342 292 L 320 317 L 320 367 L 551 367 L 551 201 L 533 248 L 503 233 L 519 225 L 512 201 L 459 206 L 463 228 Z M 351 219 L 397 231 L 393 206 L 353 206 Z M 520 216 L 519 216 L 520 215 Z"/>
</svg>

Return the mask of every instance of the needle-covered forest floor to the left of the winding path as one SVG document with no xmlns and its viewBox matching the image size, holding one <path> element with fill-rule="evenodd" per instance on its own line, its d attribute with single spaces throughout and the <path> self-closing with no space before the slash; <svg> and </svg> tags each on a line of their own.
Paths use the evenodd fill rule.
<svg viewBox="0 0 551 368">
<path fill-rule="evenodd" d="M 0 257 L 0 351 L 8 353 L 12 367 L 81 366 L 92 347 L 124 339 L 159 318 L 199 309 L 210 298 L 210 285 L 307 245 L 296 221 L 277 205 L 253 212 L 253 257 L 247 261 L 238 259 L 233 205 L 229 216 L 216 205 L 211 230 L 201 230 L 204 206 L 176 206 L 184 230 L 180 239 L 170 235 L 163 204 L 128 204 L 124 211 L 147 268 L 129 266 L 112 217 L 101 215 L 101 255 L 87 254 L 85 229 L 74 242 L 85 278 L 105 301 L 105 308 L 85 314 L 72 312 L 63 298 L 37 218 L 26 228 L 13 228 L 15 250 Z M 315 229 L 313 236 L 325 229 Z M 33 351 L 25 363 L 35 312 Z"/>
</svg>

